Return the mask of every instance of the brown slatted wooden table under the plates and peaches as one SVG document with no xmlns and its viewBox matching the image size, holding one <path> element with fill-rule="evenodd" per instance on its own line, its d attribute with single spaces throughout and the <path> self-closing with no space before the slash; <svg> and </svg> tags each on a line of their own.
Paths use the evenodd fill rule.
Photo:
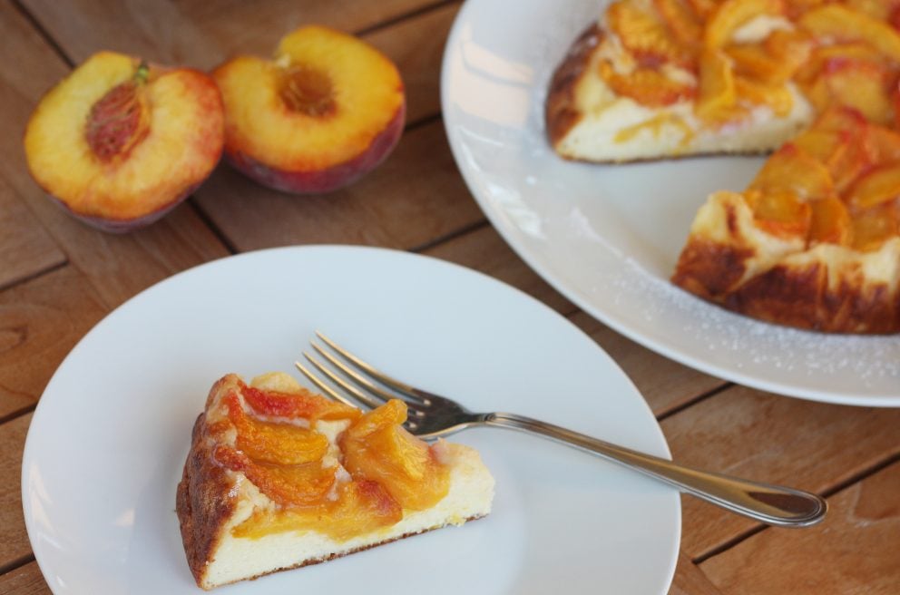
<svg viewBox="0 0 900 595">
<path fill-rule="evenodd" d="M 48 593 L 25 533 L 22 449 L 34 406 L 72 346 L 112 308 L 213 258 L 313 243 L 410 250 L 481 270 L 593 337 L 647 398 L 674 457 L 827 497 L 826 522 L 763 527 L 683 498 L 672 593 L 900 593 L 900 410 L 771 395 L 680 366 L 592 319 L 507 248 L 451 157 L 438 97 L 456 2 L 15 0 L 0 4 L 0 592 Z M 329 24 L 389 55 L 406 83 L 406 131 L 377 171 L 328 197 L 292 198 L 220 167 L 148 229 L 85 227 L 29 178 L 22 134 L 41 95 L 110 49 L 210 69 L 269 54 L 294 25 Z M 602 584 L 602 577 L 598 577 Z"/>
</svg>

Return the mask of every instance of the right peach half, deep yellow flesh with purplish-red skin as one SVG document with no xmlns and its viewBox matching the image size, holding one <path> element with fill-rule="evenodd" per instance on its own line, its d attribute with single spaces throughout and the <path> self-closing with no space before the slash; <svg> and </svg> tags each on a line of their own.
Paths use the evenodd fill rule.
<svg viewBox="0 0 900 595">
<path fill-rule="evenodd" d="M 294 194 L 337 190 L 374 170 L 406 118 L 396 66 L 353 35 L 308 25 L 271 60 L 239 56 L 212 73 L 225 102 L 225 157 Z"/>
</svg>

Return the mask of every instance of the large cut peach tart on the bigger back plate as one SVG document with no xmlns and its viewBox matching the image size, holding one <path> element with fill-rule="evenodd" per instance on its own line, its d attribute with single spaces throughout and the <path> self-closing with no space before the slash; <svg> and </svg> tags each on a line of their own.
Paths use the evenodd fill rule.
<svg viewBox="0 0 900 595">
<path fill-rule="evenodd" d="M 740 314 L 900 332 L 900 0 L 620 0 L 554 73 L 564 158 L 775 151 L 699 210 L 672 281 Z"/>
</svg>

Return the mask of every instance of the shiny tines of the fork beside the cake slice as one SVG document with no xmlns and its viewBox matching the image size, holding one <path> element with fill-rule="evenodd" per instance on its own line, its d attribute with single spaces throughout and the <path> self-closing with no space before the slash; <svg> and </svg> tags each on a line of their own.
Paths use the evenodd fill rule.
<svg viewBox="0 0 900 595">
<path fill-rule="evenodd" d="M 413 416 L 420 415 L 416 406 L 427 405 L 427 400 L 416 395 L 412 386 L 378 371 L 318 331 L 316 337 L 325 346 L 321 346 L 315 341 L 310 341 L 309 345 L 328 364 L 306 351 L 303 352 L 303 356 L 322 376 L 328 378 L 330 384 L 299 362 L 295 362 L 295 366 L 325 395 L 353 407 L 363 405 L 364 408 L 371 409 L 383 405 L 389 399 L 401 399 L 406 402 L 409 413 Z M 336 386 L 339 390 L 335 388 Z M 410 428 L 416 426 L 415 422 L 411 421 L 406 425 Z"/>
</svg>

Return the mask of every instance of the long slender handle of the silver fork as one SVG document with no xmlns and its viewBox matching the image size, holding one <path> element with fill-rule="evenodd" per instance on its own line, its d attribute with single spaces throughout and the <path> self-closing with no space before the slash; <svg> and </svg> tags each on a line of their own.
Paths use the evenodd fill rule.
<svg viewBox="0 0 900 595">
<path fill-rule="evenodd" d="M 530 417 L 494 413 L 484 415 L 482 423 L 540 434 L 556 442 L 621 463 L 670 483 L 682 492 L 691 493 L 702 500 L 770 525 L 806 527 L 825 518 L 827 511 L 827 502 L 815 493 L 701 471 Z"/>
</svg>

